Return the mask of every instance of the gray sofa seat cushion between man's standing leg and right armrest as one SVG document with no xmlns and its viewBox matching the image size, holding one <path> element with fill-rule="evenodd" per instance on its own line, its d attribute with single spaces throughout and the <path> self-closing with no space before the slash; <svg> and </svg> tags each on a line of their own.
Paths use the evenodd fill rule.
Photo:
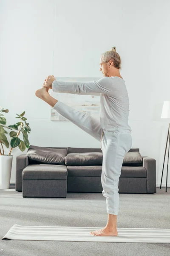
<svg viewBox="0 0 170 256">
<path fill-rule="evenodd" d="M 144 167 L 122 166 L 120 177 L 147 177 Z"/>
</svg>

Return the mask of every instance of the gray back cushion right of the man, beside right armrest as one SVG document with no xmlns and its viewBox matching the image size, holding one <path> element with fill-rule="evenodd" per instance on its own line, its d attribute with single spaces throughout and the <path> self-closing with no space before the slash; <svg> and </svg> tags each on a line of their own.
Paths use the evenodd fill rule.
<svg viewBox="0 0 170 256">
<path fill-rule="evenodd" d="M 123 166 L 141 166 L 143 162 L 139 152 L 127 152 L 123 159 Z"/>
</svg>

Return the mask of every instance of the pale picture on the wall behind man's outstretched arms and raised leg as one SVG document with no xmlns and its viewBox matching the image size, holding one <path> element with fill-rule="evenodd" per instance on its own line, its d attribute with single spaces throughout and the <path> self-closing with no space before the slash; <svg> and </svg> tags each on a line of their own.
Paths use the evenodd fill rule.
<svg viewBox="0 0 170 256">
<path fill-rule="evenodd" d="M 100 77 L 55 77 L 57 81 L 77 81 L 88 82 L 96 81 Z M 98 95 L 82 95 L 74 93 L 57 93 L 51 90 L 51 96 L 55 99 L 75 108 L 79 111 L 90 114 L 96 118 L 99 118 L 100 111 L 100 94 Z M 56 110 L 51 108 L 51 121 L 68 121 L 65 117 L 60 115 Z"/>
</svg>

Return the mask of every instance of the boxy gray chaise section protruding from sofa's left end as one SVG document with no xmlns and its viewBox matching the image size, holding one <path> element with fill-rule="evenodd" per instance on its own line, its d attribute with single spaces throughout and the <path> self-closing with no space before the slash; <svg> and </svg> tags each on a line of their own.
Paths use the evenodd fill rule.
<svg viewBox="0 0 170 256">
<path fill-rule="evenodd" d="M 52 164 L 30 164 L 23 169 L 23 198 L 66 198 L 66 195 L 66 166 Z"/>
</svg>

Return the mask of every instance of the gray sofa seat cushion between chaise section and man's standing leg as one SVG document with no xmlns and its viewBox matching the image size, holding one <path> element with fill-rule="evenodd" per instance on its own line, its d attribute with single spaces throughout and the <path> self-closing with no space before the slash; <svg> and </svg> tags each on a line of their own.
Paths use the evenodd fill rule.
<svg viewBox="0 0 170 256">
<path fill-rule="evenodd" d="M 102 166 L 67 166 L 68 176 L 101 177 Z"/>
</svg>

